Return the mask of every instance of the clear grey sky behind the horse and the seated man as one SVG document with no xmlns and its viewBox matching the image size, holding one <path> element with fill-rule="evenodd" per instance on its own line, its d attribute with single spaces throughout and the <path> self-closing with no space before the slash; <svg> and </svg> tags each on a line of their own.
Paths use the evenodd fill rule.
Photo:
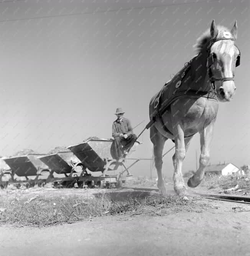
<svg viewBox="0 0 250 256">
<path fill-rule="evenodd" d="M 241 65 L 234 99 L 219 104 L 210 162 L 250 164 L 248 17 L 246 0 L 1 1 L 0 155 L 111 138 L 118 107 L 132 126 L 143 122 L 138 135 L 151 97 L 194 57 L 196 39 L 214 19 L 229 29 L 237 20 Z M 134 157 L 151 158 L 149 137 L 146 130 Z M 164 152 L 173 145 L 168 140 Z M 196 168 L 196 151 L 199 135 L 183 172 Z M 164 157 L 165 176 L 173 175 L 173 153 Z M 150 175 L 150 161 L 139 161 L 132 173 Z"/>
</svg>

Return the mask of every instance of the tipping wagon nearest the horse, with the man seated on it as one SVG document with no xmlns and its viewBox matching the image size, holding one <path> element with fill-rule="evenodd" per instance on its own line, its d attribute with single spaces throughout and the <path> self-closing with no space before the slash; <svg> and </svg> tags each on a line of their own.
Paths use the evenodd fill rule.
<svg viewBox="0 0 250 256">
<path fill-rule="evenodd" d="M 112 158 L 110 153 L 112 142 L 113 140 L 111 139 L 90 139 L 68 147 L 82 164 L 82 172 L 77 181 L 78 186 L 97 185 L 100 188 L 104 188 L 114 184 L 119 187 L 125 180 L 132 178 L 128 169 L 133 164 L 126 166 L 125 159 L 122 162 L 118 162 Z M 127 156 L 135 151 L 139 144 L 141 143 L 136 141 Z M 95 175 L 97 172 L 100 172 L 99 176 Z M 125 172 L 127 173 L 126 177 L 123 175 Z"/>
</svg>

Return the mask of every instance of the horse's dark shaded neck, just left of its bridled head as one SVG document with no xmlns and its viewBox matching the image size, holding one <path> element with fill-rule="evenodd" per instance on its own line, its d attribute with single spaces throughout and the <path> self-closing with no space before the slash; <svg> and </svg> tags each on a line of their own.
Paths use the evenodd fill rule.
<svg viewBox="0 0 250 256">
<path fill-rule="evenodd" d="M 207 52 L 202 50 L 192 61 L 192 82 L 195 88 L 201 91 L 211 91 L 207 72 Z"/>
</svg>

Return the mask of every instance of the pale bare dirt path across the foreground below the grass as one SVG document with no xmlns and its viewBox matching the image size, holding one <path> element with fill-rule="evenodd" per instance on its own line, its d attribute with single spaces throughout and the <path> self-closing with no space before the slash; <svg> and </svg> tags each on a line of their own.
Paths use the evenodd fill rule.
<svg viewBox="0 0 250 256">
<path fill-rule="evenodd" d="M 2 226 L 0 254 L 250 256 L 250 206 L 207 202 L 214 207 L 202 212 L 130 213 L 41 229 Z"/>
</svg>

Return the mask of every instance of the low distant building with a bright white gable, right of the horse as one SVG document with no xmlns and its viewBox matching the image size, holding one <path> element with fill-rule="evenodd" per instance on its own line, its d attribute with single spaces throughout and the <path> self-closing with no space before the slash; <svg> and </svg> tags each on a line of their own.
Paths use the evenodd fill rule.
<svg viewBox="0 0 250 256">
<path fill-rule="evenodd" d="M 236 165 L 233 165 L 232 163 L 219 163 L 217 165 L 208 165 L 205 173 L 214 173 L 218 175 L 231 175 L 232 173 L 236 173 L 239 171 L 240 168 L 238 168 Z"/>
</svg>

